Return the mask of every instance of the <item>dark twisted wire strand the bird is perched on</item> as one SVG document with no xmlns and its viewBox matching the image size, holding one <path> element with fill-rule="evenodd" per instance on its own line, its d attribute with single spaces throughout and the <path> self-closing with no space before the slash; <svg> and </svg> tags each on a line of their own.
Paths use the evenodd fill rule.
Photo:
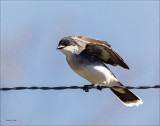
<svg viewBox="0 0 160 126">
<path fill-rule="evenodd" d="M 154 86 L 91 86 L 91 85 L 84 85 L 84 86 L 60 86 L 60 87 L 13 87 L 13 88 L 0 88 L 0 91 L 9 91 L 9 90 L 65 90 L 65 89 L 82 89 L 86 92 L 89 91 L 89 89 L 98 89 L 102 90 L 104 88 L 124 88 L 124 89 L 150 89 L 150 88 L 160 88 L 160 85 L 154 85 Z"/>
</svg>

